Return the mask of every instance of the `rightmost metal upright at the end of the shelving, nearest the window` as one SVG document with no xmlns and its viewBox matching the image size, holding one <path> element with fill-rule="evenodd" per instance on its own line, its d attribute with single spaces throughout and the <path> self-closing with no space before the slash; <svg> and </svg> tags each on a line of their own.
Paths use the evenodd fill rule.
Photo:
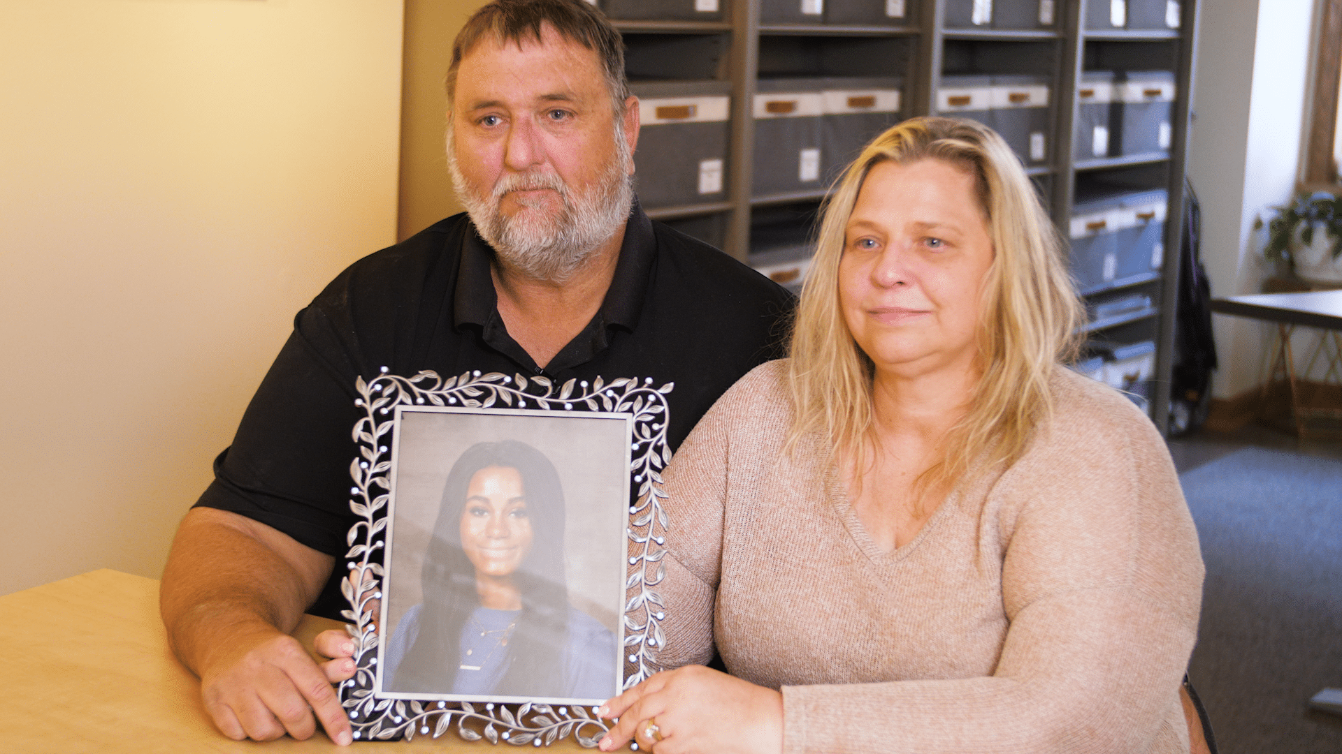
<svg viewBox="0 0 1342 754">
<path fill-rule="evenodd" d="M 1193 71 L 1197 64 L 1197 16 L 1200 3 L 1184 0 L 1180 8 L 1177 90 L 1170 123 L 1169 203 L 1165 212 L 1165 260 L 1161 266 L 1161 314 L 1155 342 L 1155 400 L 1151 420 L 1161 435 L 1169 432 L 1170 382 L 1174 369 L 1180 258 L 1184 254 L 1184 173 L 1193 111 Z"/>
</svg>

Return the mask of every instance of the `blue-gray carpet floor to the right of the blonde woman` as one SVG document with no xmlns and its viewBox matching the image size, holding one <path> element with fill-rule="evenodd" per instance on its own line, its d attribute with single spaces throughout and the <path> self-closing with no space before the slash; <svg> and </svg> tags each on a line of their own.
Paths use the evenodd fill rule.
<svg viewBox="0 0 1342 754">
<path fill-rule="evenodd" d="M 1189 675 L 1224 754 L 1342 753 L 1342 459 L 1294 449 L 1172 448 L 1206 562 Z M 1201 456 L 1201 457 L 1198 457 Z"/>
</svg>

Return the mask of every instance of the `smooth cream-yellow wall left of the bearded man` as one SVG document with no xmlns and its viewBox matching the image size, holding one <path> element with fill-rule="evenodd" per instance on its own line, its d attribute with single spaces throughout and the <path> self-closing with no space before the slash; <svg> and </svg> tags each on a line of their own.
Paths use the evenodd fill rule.
<svg viewBox="0 0 1342 754">
<path fill-rule="evenodd" d="M 393 241 L 401 0 L 0 0 L 0 593 L 157 577 L 294 313 Z"/>
</svg>

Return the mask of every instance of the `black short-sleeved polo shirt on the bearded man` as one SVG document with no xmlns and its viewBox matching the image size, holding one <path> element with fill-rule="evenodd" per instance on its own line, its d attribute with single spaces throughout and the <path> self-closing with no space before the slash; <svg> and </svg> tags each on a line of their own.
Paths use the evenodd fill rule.
<svg viewBox="0 0 1342 754">
<path fill-rule="evenodd" d="M 542 370 L 498 314 L 493 250 L 466 215 L 341 272 L 298 313 L 197 506 L 239 513 L 331 555 L 345 551 L 354 382 L 395 374 L 651 377 L 667 396 L 675 449 L 742 374 L 782 356 L 792 297 L 721 251 L 629 216 L 615 279 L 592 322 Z M 311 612 L 338 617 L 337 568 Z"/>
</svg>

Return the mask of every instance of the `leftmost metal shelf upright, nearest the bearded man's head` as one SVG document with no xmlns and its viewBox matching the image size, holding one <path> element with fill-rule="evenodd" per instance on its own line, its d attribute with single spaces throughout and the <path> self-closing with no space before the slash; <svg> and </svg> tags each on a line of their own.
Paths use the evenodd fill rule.
<svg viewBox="0 0 1342 754">
<path fill-rule="evenodd" d="M 746 260 L 750 252 L 750 191 L 754 181 L 754 93 L 760 75 L 760 0 L 731 7 L 731 154 L 727 201 L 731 203 L 727 254 Z"/>
</svg>

